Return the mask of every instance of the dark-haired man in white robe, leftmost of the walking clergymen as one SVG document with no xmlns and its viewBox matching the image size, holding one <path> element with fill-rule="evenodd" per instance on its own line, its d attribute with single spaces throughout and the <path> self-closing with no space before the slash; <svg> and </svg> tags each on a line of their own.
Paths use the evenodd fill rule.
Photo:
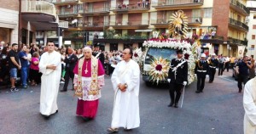
<svg viewBox="0 0 256 134">
<path fill-rule="evenodd" d="M 61 81 L 61 54 L 55 52 L 54 42 L 47 43 L 48 52 L 39 62 L 41 77 L 40 113 L 45 117 L 58 112 L 57 95 Z"/>
</svg>

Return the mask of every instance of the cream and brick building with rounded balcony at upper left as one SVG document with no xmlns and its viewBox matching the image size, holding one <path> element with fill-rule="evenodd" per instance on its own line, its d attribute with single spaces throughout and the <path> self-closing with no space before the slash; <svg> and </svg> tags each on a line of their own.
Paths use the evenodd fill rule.
<svg viewBox="0 0 256 134">
<path fill-rule="evenodd" d="M 55 5 L 52 3 L 37 0 L 0 2 L 1 42 L 30 44 L 36 42 L 37 32 L 56 31 L 58 27 L 65 27 L 59 23 Z M 47 38 L 43 38 L 46 42 Z M 44 45 L 44 42 L 41 44 Z"/>
</svg>

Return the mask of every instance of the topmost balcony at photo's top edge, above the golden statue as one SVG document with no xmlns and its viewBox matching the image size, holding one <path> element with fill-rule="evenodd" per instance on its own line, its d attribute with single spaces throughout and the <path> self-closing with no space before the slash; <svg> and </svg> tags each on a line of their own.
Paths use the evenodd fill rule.
<svg viewBox="0 0 256 134">
<path fill-rule="evenodd" d="M 184 9 L 201 7 L 204 4 L 204 0 L 161 0 L 159 3 L 151 3 L 153 8 L 157 10 L 166 9 Z"/>
</svg>

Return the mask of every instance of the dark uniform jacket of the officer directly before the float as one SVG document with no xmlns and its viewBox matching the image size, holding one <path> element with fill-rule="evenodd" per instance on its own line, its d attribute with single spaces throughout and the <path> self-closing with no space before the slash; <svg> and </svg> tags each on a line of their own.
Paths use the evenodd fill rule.
<svg viewBox="0 0 256 134">
<path fill-rule="evenodd" d="M 172 59 L 171 68 L 168 73 L 168 78 L 171 79 L 172 83 L 183 84 L 183 81 L 188 82 L 188 62 L 187 61 L 177 68 L 176 74 L 175 74 L 175 71 L 172 71 L 173 68 L 177 66 L 177 64 L 180 64 L 185 60 L 186 59 L 180 59 L 180 60 Z"/>
</svg>

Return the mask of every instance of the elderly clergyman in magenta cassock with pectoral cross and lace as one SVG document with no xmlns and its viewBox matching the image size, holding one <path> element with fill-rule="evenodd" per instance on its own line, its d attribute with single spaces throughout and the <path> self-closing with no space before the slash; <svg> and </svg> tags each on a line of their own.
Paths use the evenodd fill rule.
<svg viewBox="0 0 256 134">
<path fill-rule="evenodd" d="M 85 121 L 96 117 L 99 98 L 104 85 L 104 68 L 99 59 L 92 56 L 90 47 L 83 48 L 84 57 L 79 59 L 73 73 L 74 90 L 78 96 L 77 115 Z"/>
</svg>

